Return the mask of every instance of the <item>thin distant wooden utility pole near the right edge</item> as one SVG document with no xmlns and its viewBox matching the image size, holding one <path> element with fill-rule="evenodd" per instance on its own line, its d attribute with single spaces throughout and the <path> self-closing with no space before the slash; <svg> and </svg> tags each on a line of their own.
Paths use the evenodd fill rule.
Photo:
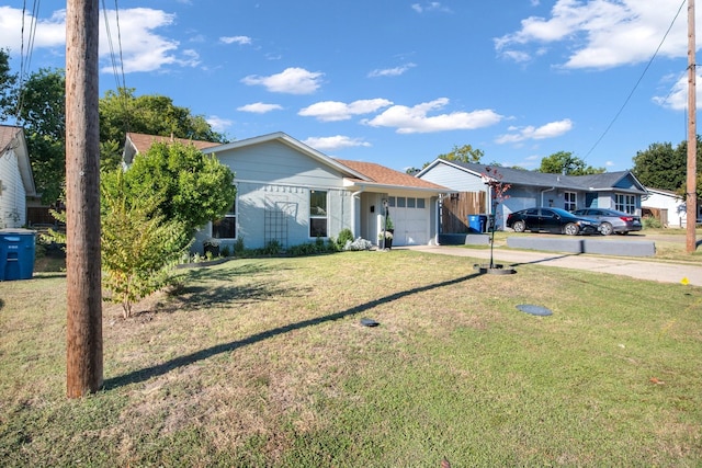
<svg viewBox="0 0 702 468">
<path fill-rule="evenodd" d="M 688 0 L 688 178 L 687 178 L 687 251 L 697 249 L 694 230 L 698 220 L 698 132 L 697 132 L 697 64 L 694 49 L 694 0 Z"/>
</svg>

